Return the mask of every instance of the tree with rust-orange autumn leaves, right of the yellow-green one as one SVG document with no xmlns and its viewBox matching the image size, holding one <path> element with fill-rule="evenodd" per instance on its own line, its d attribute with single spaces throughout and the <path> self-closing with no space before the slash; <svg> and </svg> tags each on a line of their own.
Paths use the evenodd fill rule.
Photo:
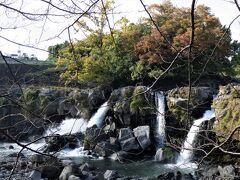
<svg viewBox="0 0 240 180">
<path fill-rule="evenodd" d="M 177 53 L 189 45 L 192 32 L 189 8 L 177 8 L 165 1 L 150 6 L 149 12 L 158 29 L 153 26 L 151 34 L 143 36 L 135 46 L 140 59 L 136 67 L 142 67 L 145 76 L 165 70 Z M 190 58 L 193 75 L 198 76 L 204 67 L 204 73 L 213 73 L 229 66 L 230 42 L 230 32 L 208 7 L 199 5 L 195 10 L 195 36 Z M 185 75 L 188 60 L 188 53 L 182 53 L 170 71 Z"/>
</svg>

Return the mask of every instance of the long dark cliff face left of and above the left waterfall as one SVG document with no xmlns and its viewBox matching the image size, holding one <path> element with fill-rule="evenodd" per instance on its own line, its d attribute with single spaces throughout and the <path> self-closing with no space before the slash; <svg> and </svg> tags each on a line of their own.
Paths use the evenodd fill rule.
<svg viewBox="0 0 240 180">
<path fill-rule="evenodd" d="M 16 90 L 11 97 L 0 98 L 0 126 L 20 139 L 41 135 L 49 122 L 60 122 L 66 116 L 89 119 L 111 91 L 108 87 L 80 90 L 34 86 L 22 90 L 23 94 Z"/>
</svg>

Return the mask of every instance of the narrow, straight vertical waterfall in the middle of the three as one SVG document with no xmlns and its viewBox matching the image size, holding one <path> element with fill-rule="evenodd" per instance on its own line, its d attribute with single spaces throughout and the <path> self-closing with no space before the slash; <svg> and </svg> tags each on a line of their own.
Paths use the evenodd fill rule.
<svg viewBox="0 0 240 180">
<path fill-rule="evenodd" d="M 156 127 L 156 147 L 157 149 L 163 146 L 165 140 L 165 97 L 163 92 L 155 94 L 157 105 L 157 127 Z"/>
</svg>

